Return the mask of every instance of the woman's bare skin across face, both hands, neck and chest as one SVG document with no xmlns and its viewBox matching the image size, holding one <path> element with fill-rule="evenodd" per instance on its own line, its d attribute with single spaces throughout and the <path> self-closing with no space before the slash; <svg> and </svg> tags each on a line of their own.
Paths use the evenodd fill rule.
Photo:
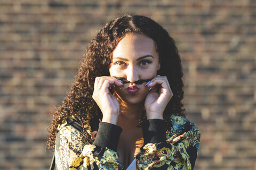
<svg viewBox="0 0 256 170">
<path fill-rule="evenodd" d="M 143 108 L 146 109 L 147 119 L 163 120 L 164 109 L 172 98 L 167 78 L 156 75 L 160 67 L 154 41 L 142 34 L 127 34 L 113 51 L 110 77 L 95 79 L 93 99 L 102 111 L 102 122 L 112 123 L 123 129 L 117 151 L 119 162 L 125 167 L 129 166 L 143 145 L 142 130 L 137 128 Z M 140 79 L 151 81 L 123 84 L 114 77 L 125 78 L 130 82 Z M 126 89 L 132 86 L 139 88 L 135 94 Z M 114 88 L 114 95 L 110 93 L 109 87 Z"/>
</svg>

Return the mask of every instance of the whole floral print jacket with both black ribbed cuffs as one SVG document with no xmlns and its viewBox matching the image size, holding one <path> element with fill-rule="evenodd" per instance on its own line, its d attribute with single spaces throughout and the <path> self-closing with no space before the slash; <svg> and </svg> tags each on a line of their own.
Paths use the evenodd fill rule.
<svg viewBox="0 0 256 170">
<path fill-rule="evenodd" d="M 144 145 L 136 156 L 136 169 L 194 168 L 200 140 L 200 131 L 194 123 L 172 115 L 166 127 L 163 120 L 147 120 L 141 126 Z M 76 118 L 59 126 L 55 169 L 123 169 L 117 161 L 122 132 L 119 126 L 97 121 L 87 124 L 92 144 L 85 140 L 81 129 Z"/>
</svg>

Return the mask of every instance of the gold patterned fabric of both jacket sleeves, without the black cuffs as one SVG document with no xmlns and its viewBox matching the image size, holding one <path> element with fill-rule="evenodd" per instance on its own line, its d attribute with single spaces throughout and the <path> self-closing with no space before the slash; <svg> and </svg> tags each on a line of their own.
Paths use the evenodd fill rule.
<svg viewBox="0 0 256 170">
<path fill-rule="evenodd" d="M 97 131 L 87 132 L 95 139 Z M 172 115 L 166 142 L 147 143 L 136 157 L 137 169 L 193 169 L 199 148 L 200 132 L 194 123 Z M 123 169 L 114 150 L 88 144 L 73 126 L 59 127 L 55 145 L 57 169 Z"/>
</svg>

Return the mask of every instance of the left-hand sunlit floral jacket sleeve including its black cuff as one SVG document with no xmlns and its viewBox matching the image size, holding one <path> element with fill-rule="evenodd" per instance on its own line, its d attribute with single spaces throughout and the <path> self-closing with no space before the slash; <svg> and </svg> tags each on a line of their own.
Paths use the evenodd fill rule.
<svg viewBox="0 0 256 170">
<path fill-rule="evenodd" d="M 123 169 L 117 162 L 117 143 L 122 129 L 110 123 L 100 123 L 94 142 L 73 126 L 63 125 L 56 138 L 55 164 L 57 169 Z M 110 142 L 111 141 L 111 142 Z"/>
</svg>

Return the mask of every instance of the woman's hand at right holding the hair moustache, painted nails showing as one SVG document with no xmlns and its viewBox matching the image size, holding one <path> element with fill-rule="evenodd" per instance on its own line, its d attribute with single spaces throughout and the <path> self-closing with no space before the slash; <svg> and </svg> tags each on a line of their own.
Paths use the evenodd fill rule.
<svg viewBox="0 0 256 170">
<path fill-rule="evenodd" d="M 157 76 L 146 86 L 151 88 L 145 99 L 147 119 L 163 119 L 164 109 L 173 96 L 169 81 L 165 76 Z"/>
</svg>

